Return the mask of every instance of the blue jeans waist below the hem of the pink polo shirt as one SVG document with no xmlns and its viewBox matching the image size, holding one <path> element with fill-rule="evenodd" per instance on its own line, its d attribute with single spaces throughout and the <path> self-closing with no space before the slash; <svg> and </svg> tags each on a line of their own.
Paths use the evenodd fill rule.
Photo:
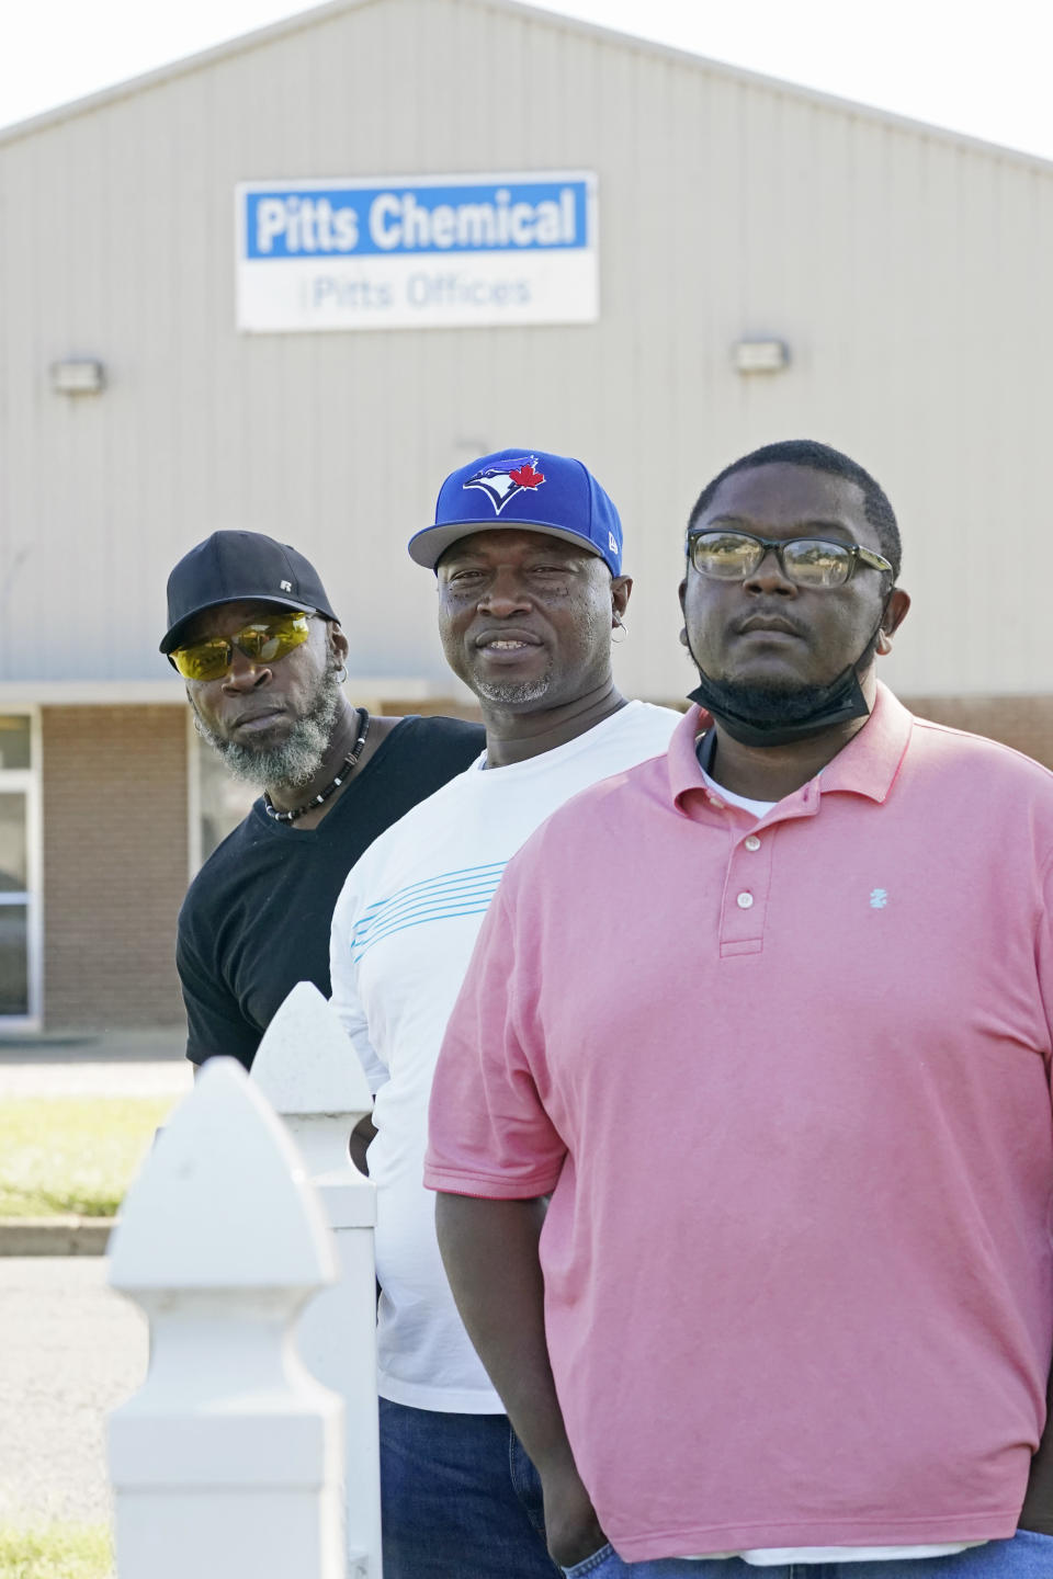
<svg viewBox="0 0 1053 1579">
<path fill-rule="evenodd" d="M 624 1563 L 613 1546 L 564 1568 L 573 1579 L 1053 1579 L 1053 1535 L 1018 1530 L 1012 1541 L 988 1541 L 954 1557 L 908 1557 L 873 1563 L 780 1563 L 755 1568 L 740 1557 L 660 1557 Z"/>
</svg>

